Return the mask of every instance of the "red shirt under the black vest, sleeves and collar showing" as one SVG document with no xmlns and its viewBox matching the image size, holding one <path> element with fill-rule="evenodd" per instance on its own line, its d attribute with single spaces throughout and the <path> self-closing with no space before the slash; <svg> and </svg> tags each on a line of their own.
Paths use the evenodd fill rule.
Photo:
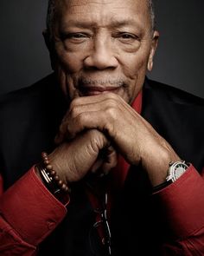
<svg viewBox="0 0 204 256">
<path fill-rule="evenodd" d="M 142 94 L 132 107 L 141 113 Z M 123 186 L 129 164 L 122 157 L 115 172 Z M 187 189 L 188 188 L 188 189 Z M 0 176 L 0 255 L 35 255 L 37 246 L 67 214 L 67 208 L 42 184 L 32 167 L 3 193 Z M 204 255 L 204 169 L 191 165 L 180 179 L 153 194 L 161 203 L 174 244 L 163 245 L 163 255 Z M 92 204 L 97 204 L 90 197 Z"/>
</svg>

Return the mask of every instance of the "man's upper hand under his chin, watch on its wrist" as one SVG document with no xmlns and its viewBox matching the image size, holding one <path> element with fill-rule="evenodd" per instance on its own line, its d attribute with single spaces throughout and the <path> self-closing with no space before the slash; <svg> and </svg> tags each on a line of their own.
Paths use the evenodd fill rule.
<svg viewBox="0 0 204 256">
<path fill-rule="evenodd" d="M 142 164 L 156 186 L 167 176 L 169 161 L 180 158 L 169 143 L 118 95 L 80 97 L 71 103 L 61 123 L 58 143 L 87 129 L 98 129 L 132 165 Z"/>
</svg>

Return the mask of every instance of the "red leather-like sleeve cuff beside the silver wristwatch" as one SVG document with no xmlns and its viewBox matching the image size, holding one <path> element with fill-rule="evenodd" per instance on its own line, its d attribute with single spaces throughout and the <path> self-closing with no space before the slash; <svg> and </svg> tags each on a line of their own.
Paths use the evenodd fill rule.
<svg viewBox="0 0 204 256">
<path fill-rule="evenodd" d="M 174 242 L 163 255 L 204 255 L 204 179 L 191 165 L 174 183 L 153 195 L 162 206 Z"/>
</svg>

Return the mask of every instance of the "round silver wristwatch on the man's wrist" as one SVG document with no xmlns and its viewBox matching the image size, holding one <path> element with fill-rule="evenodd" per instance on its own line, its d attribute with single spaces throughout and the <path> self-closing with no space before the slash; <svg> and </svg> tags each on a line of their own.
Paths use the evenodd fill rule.
<svg viewBox="0 0 204 256">
<path fill-rule="evenodd" d="M 175 182 L 178 180 L 182 174 L 186 172 L 188 169 L 189 164 L 185 161 L 175 161 L 169 163 L 169 170 L 168 170 L 168 176 L 166 178 L 166 181 Z"/>
</svg>

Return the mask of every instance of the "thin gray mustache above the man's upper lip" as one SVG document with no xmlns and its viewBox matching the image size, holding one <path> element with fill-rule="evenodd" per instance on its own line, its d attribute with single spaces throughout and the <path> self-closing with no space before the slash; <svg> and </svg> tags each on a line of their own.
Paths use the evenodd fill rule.
<svg viewBox="0 0 204 256">
<path fill-rule="evenodd" d="M 127 87 L 127 82 L 124 81 L 122 78 L 105 78 L 105 79 L 92 79 L 90 77 L 80 77 L 78 81 L 78 86 L 104 86 L 104 85 L 112 85 L 115 87 Z"/>
</svg>

